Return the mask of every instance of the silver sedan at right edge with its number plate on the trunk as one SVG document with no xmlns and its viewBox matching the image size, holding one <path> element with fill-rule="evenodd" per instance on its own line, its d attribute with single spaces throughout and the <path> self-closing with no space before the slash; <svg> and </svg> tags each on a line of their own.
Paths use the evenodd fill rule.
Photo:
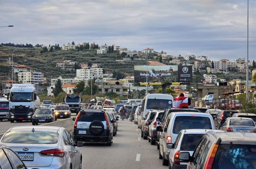
<svg viewBox="0 0 256 169">
<path fill-rule="evenodd" d="M 220 126 L 220 130 L 228 132 L 256 133 L 256 125 L 251 118 L 228 117 Z"/>
</svg>

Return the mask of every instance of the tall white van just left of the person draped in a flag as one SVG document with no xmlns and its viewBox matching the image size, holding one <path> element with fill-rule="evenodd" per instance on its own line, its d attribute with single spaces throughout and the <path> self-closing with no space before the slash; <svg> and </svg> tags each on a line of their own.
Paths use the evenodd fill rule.
<svg viewBox="0 0 256 169">
<path fill-rule="evenodd" d="M 141 124 L 143 120 L 142 117 L 146 117 L 148 111 L 150 110 L 165 110 L 168 107 L 172 108 L 173 97 L 169 94 L 148 94 L 146 95 L 141 104 L 141 114 L 138 119 L 138 128 L 141 129 Z"/>
</svg>

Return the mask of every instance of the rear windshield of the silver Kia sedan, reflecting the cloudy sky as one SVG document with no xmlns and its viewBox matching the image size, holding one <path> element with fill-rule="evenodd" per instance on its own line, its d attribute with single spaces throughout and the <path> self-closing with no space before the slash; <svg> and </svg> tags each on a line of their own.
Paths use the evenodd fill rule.
<svg viewBox="0 0 256 169">
<path fill-rule="evenodd" d="M 50 131 L 10 131 L 4 135 L 3 143 L 56 144 L 59 134 Z"/>
</svg>

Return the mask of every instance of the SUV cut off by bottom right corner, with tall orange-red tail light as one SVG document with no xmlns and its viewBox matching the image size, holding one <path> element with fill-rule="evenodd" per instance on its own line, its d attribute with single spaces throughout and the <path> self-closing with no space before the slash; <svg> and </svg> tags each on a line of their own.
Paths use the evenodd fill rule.
<svg viewBox="0 0 256 169">
<path fill-rule="evenodd" d="M 179 160 L 195 168 L 256 168 L 256 134 L 208 131 L 193 154 L 180 152 Z"/>
</svg>

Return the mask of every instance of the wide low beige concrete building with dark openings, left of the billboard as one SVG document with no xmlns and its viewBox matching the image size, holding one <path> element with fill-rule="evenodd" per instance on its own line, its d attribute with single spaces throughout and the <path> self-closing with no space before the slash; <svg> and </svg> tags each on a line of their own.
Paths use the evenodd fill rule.
<svg viewBox="0 0 256 169">
<path fill-rule="evenodd" d="M 129 86 L 123 86 L 122 80 L 109 80 L 105 82 L 97 82 L 99 93 L 115 92 L 119 96 L 128 96 Z"/>
</svg>

